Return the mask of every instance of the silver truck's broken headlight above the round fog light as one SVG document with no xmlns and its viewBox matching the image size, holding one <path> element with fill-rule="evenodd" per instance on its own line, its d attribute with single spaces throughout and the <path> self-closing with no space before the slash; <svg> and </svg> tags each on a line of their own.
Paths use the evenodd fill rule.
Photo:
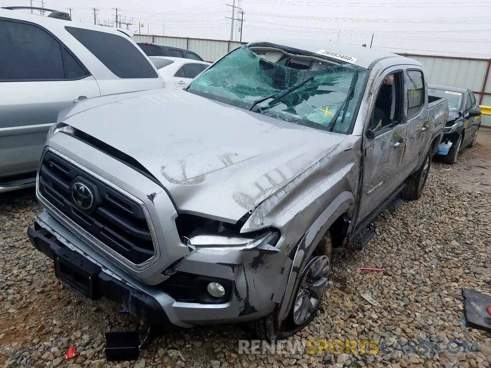
<svg viewBox="0 0 491 368">
<path fill-rule="evenodd" d="M 191 247 L 208 249 L 245 249 L 254 248 L 262 244 L 275 246 L 279 239 L 278 233 L 268 233 L 260 238 L 224 237 L 220 235 L 197 235 L 188 240 Z"/>
</svg>

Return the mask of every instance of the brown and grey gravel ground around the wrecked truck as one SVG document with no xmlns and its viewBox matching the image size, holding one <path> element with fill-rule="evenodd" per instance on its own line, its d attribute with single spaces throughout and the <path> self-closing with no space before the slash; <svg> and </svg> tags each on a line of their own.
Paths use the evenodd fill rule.
<svg viewBox="0 0 491 368">
<path fill-rule="evenodd" d="M 226 325 L 166 332 L 136 362 L 106 363 L 104 333 L 134 321 L 113 303 L 89 302 L 55 279 L 52 262 L 27 240 L 27 226 L 42 210 L 32 191 L 0 196 L 0 366 L 490 367 L 491 339 L 461 319 L 461 288 L 491 295 L 491 193 L 449 184 L 465 175 L 471 159 L 462 155 L 451 170 L 434 162 L 419 201 L 384 212 L 377 237 L 363 252 L 336 256 L 319 315 L 289 339 L 387 340 L 402 346 L 392 354 L 239 354 L 238 340 L 255 337 Z M 374 305 L 361 294 L 371 295 Z M 428 340 L 431 347 L 438 339 L 480 343 L 475 352 L 414 354 L 406 351 L 411 339 Z M 80 355 L 63 360 L 71 344 Z"/>
</svg>

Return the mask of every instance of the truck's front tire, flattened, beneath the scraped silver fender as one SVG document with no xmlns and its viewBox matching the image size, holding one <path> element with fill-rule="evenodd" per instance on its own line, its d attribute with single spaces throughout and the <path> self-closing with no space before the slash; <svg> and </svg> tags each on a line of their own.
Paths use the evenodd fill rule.
<svg viewBox="0 0 491 368">
<path fill-rule="evenodd" d="M 312 253 L 309 261 L 307 262 L 305 268 L 300 274 L 300 283 L 295 290 L 294 293 L 294 302 L 292 303 L 292 307 L 286 319 L 280 324 L 278 318 L 275 314 L 267 315 L 266 317 L 260 319 L 255 322 L 256 333 L 259 335 L 261 339 L 273 342 L 276 339 L 287 339 L 293 334 L 302 330 L 306 325 L 308 325 L 312 319 L 317 315 L 317 311 L 321 306 L 322 296 L 324 290 L 327 286 L 327 281 L 329 280 L 330 270 L 332 266 L 332 237 L 329 231 L 327 231 L 326 235 L 321 239 L 316 249 Z M 316 267 L 320 267 L 322 273 L 316 275 L 314 270 Z M 327 268 L 328 267 L 328 268 Z M 326 272 L 327 268 L 327 272 Z M 319 276 L 316 278 L 316 276 Z M 311 280 L 312 279 L 312 280 Z M 315 279 L 315 280 L 314 280 Z M 321 285 L 315 285 L 317 282 Z M 307 288 L 304 288 L 305 283 L 308 285 Z M 302 289 L 303 288 L 303 289 Z M 312 288 L 312 289 L 310 289 Z M 312 308 L 309 309 L 309 315 L 299 320 L 299 309 L 303 306 L 303 299 L 300 306 L 296 306 L 296 302 L 298 301 L 300 292 L 308 292 L 307 294 L 302 294 L 306 296 L 304 299 L 309 299 L 309 306 Z M 317 296 L 320 293 L 320 297 L 317 299 L 314 296 Z M 312 295 L 312 298 L 310 297 Z M 312 299 L 316 301 L 315 306 L 312 304 Z M 297 312 L 297 313 L 296 313 Z"/>
</svg>

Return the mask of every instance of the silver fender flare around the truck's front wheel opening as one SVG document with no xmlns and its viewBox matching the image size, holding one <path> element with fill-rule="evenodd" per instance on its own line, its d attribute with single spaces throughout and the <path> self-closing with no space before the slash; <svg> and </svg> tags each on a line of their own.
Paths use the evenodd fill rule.
<svg viewBox="0 0 491 368">
<path fill-rule="evenodd" d="M 293 258 L 292 268 L 288 276 L 287 286 L 283 299 L 278 306 L 278 319 L 283 320 L 287 317 L 292 305 L 292 296 L 294 290 L 297 289 L 299 283 L 299 275 L 307 264 L 309 257 L 315 250 L 317 244 L 330 230 L 332 224 L 343 216 L 345 213 L 350 213 L 353 210 L 355 198 L 353 193 L 344 191 L 340 193 L 327 206 L 321 215 L 314 221 L 310 228 L 301 237 L 297 245 L 292 250 L 290 257 Z"/>
</svg>

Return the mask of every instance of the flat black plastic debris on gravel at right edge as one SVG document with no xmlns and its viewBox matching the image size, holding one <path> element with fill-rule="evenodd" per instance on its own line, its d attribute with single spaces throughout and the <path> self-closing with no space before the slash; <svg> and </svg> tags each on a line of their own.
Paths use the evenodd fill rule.
<svg viewBox="0 0 491 368">
<path fill-rule="evenodd" d="M 491 296 L 462 289 L 466 327 L 491 332 Z"/>
</svg>

